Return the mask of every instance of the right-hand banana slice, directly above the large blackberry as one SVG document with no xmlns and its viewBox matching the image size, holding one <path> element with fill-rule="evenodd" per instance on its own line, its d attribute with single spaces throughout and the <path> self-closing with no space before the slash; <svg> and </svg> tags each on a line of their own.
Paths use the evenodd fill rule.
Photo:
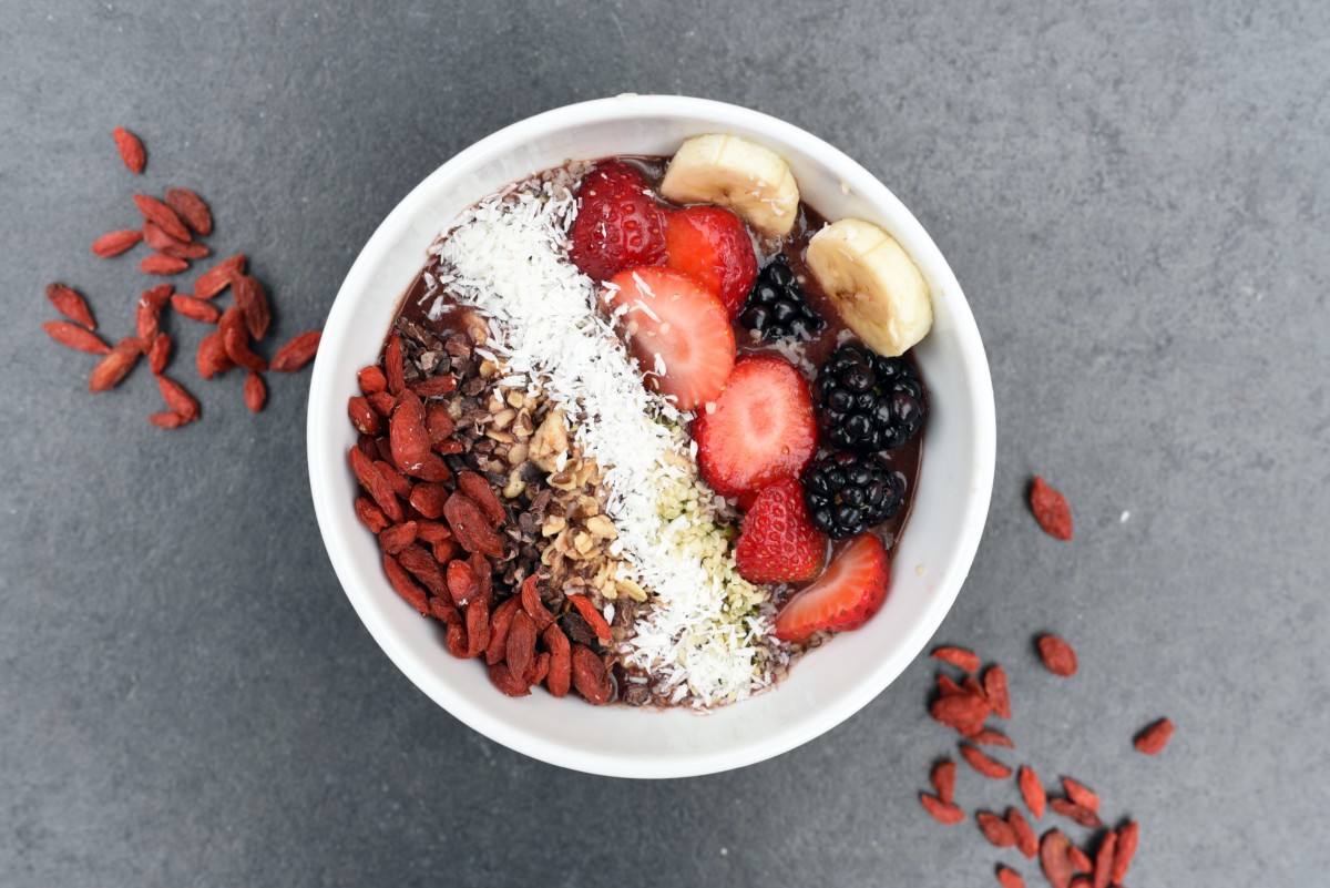
<svg viewBox="0 0 1330 888">
<path fill-rule="evenodd" d="M 928 284 L 910 254 L 872 222 L 833 222 L 809 241 L 807 259 L 845 323 L 872 351 L 895 358 L 928 335 Z"/>
</svg>

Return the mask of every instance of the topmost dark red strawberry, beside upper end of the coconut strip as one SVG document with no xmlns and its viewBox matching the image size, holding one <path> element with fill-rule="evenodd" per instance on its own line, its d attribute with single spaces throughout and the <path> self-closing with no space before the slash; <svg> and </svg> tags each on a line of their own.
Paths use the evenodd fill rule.
<svg viewBox="0 0 1330 888">
<path fill-rule="evenodd" d="M 661 207 L 642 174 L 617 161 L 597 164 L 577 185 L 577 218 L 569 258 L 584 274 L 605 280 L 624 269 L 665 261 Z"/>
</svg>

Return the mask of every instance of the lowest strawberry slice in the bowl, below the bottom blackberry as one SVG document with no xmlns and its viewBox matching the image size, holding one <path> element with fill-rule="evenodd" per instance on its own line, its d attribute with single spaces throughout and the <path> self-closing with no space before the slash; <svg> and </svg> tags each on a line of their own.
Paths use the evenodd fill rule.
<svg viewBox="0 0 1330 888">
<path fill-rule="evenodd" d="M 807 641 L 823 629 L 858 629 L 887 598 L 887 550 L 864 533 L 831 560 L 822 578 L 790 596 L 775 614 L 775 637 Z"/>
</svg>

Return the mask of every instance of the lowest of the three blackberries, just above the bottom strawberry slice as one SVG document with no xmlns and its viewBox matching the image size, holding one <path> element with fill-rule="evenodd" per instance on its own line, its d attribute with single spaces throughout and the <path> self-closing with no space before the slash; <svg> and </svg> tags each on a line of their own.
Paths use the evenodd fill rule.
<svg viewBox="0 0 1330 888">
<path fill-rule="evenodd" d="M 878 456 L 838 451 L 803 473 L 809 517 L 833 540 L 863 533 L 887 521 L 906 501 L 906 477 Z"/>
</svg>

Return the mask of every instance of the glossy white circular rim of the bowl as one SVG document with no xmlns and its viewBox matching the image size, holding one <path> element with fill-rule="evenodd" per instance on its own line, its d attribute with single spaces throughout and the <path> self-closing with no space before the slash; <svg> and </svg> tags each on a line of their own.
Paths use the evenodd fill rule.
<svg viewBox="0 0 1330 888">
<path fill-rule="evenodd" d="M 960 352 L 967 358 L 962 368 L 966 384 L 975 395 L 974 415 L 971 416 L 975 427 L 975 452 L 978 455 L 975 475 L 972 477 L 974 488 L 964 509 L 964 521 L 958 528 L 956 557 L 951 564 L 943 565 L 943 578 L 932 590 L 936 600 L 931 602 L 923 619 L 916 623 L 902 650 L 890 657 L 890 665 L 868 673 L 864 681 L 854 689 L 854 693 L 846 694 L 838 706 L 825 710 L 819 718 L 791 721 L 789 728 L 785 731 L 720 752 L 685 752 L 665 760 L 644 760 L 640 756 L 621 754 L 616 748 L 572 750 L 549 743 L 535 732 L 513 728 L 500 722 L 491 717 L 483 707 L 475 706 L 469 701 L 451 693 L 447 683 L 438 681 L 428 666 L 398 638 L 396 630 L 382 619 L 374 608 L 368 606 L 371 590 L 359 588 L 354 581 L 350 556 L 346 554 L 344 546 L 340 545 L 340 533 L 336 522 L 332 520 L 332 516 L 338 510 L 344 512 L 352 508 L 352 501 L 346 496 L 344 489 L 329 483 L 332 477 L 344 473 L 343 461 L 338 461 L 334 465 L 332 460 L 325 457 L 326 439 L 323 437 L 329 424 L 329 412 L 332 409 L 332 404 L 329 401 L 331 400 L 331 393 L 335 391 L 335 376 L 340 368 L 322 359 L 315 359 L 310 380 L 306 444 L 315 517 L 338 581 L 374 641 L 418 689 L 472 730 L 537 760 L 605 776 L 681 778 L 745 767 L 802 746 L 859 711 L 886 690 L 919 655 L 924 645 L 928 643 L 942 625 L 947 613 L 950 613 L 968 576 L 975 552 L 983 536 L 992 495 L 996 456 L 996 417 L 988 359 L 974 314 L 970 310 L 970 303 L 942 251 L 934 243 L 923 225 L 895 194 L 859 162 L 794 124 L 749 108 L 686 96 L 638 96 L 625 93 L 610 98 L 564 105 L 511 124 L 452 156 L 402 198 L 375 229 L 338 290 L 325 323 L 325 335 L 330 331 L 332 335 L 346 335 L 344 330 L 352 316 L 354 303 L 364 292 L 368 283 L 370 269 L 411 227 L 414 217 L 434 191 L 435 182 L 452 175 L 459 167 L 468 167 L 473 161 L 561 129 L 612 121 L 626 122 L 641 118 L 702 118 L 714 121 L 718 128 L 724 128 L 728 124 L 745 126 L 770 134 L 773 138 L 802 150 L 807 156 L 817 157 L 847 187 L 888 215 L 892 219 L 892 225 L 898 225 L 900 229 L 910 229 L 911 239 L 915 243 L 915 249 L 911 250 L 914 261 L 920 266 L 927 266 L 927 277 L 940 282 L 943 288 L 955 294 L 955 304 L 952 306 L 955 314 L 954 334 L 958 339 Z M 481 195 L 477 195 L 477 199 Z M 339 411 L 335 412 L 339 413 Z M 904 654 L 908 655 L 906 657 Z"/>
</svg>

